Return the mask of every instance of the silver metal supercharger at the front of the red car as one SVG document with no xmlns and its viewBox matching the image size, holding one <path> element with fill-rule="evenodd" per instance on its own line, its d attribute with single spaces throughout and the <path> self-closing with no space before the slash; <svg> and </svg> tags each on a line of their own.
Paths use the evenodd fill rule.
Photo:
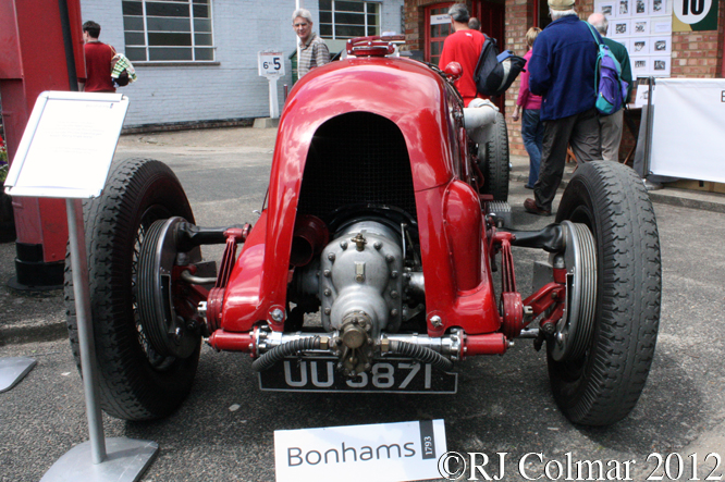
<svg viewBox="0 0 725 482">
<path fill-rule="evenodd" d="M 422 273 L 405 272 L 404 258 L 394 227 L 355 221 L 337 230 L 319 265 L 304 276 L 305 291 L 316 291 L 320 299 L 324 331 L 337 333 L 336 349 L 347 374 L 368 370 L 374 341 L 398 331 L 408 314 L 406 288 L 422 292 Z"/>
</svg>

